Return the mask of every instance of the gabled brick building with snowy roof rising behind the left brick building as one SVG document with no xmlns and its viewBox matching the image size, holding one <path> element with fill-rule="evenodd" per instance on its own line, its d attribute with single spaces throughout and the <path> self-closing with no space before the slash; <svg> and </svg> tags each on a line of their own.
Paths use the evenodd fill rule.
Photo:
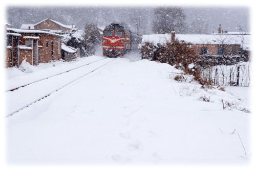
<svg viewBox="0 0 256 171">
<path fill-rule="evenodd" d="M 45 30 L 57 34 L 66 34 L 71 29 L 76 29 L 75 25 L 64 25 L 61 22 L 46 18 L 35 24 L 23 24 L 20 29 Z"/>
</svg>

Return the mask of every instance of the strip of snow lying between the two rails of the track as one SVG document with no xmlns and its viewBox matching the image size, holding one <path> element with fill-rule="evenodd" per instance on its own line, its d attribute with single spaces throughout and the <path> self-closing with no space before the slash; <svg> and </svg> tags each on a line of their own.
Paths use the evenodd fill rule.
<svg viewBox="0 0 256 171">
<path fill-rule="evenodd" d="M 114 59 L 114 60 L 117 60 L 117 59 Z M 27 84 L 26 87 L 22 86 L 22 88 L 20 87 L 19 89 L 16 88 L 15 92 L 7 91 L 7 102 L 9 105 L 11 104 L 11 106 L 7 108 L 8 114 L 6 117 L 11 116 L 14 113 L 32 105 L 33 103 L 36 103 L 44 99 L 45 97 L 49 96 L 53 92 L 56 92 L 62 89 L 63 87 L 66 87 L 67 85 L 77 81 L 78 79 L 91 74 L 95 70 L 113 62 L 114 60 L 109 58 L 105 58 L 105 60 L 103 61 L 102 59 L 97 60 L 95 62 L 89 63 L 89 64 L 93 63 L 89 67 L 82 68 L 82 66 L 89 65 L 89 64 L 85 64 L 85 65 L 70 69 L 68 71 L 61 72 L 57 75 L 53 75 L 51 77 Z M 78 70 L 75 70 L 75 69 L 78 69 Z M 71 70 L 73 70 L 73 72 L 70 72 Z M 85 72 L 86 74 L 84 74 Z M 62 75 L 63 73 L 67 73 L 67 74 Z M 73 76 L 75 76 L 76 79 L 73 79 Z M 59 84 L 62 86 L 59 86 Z"/>
</svg>

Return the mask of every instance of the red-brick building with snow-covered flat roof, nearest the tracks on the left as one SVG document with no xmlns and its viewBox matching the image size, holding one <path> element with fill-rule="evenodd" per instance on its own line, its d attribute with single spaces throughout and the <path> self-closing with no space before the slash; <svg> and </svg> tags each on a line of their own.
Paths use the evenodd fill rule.
<svg viewBox="0 0 256 171">
<path fill-rule="evenodd" d="M 40 30 L 7 28 L 7 67 L 24 59 L 31 65 L 61 59 L 61 35 Z"/>
</svg>

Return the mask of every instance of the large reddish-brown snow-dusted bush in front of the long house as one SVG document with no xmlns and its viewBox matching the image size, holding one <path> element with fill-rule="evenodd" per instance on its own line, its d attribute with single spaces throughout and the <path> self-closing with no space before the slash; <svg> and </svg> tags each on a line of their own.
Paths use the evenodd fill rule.
<svg viewBox="0 0 256 171">
<path fill-rule="evenodd" d="M 183 70 L 184 74 L 193 75 L 194 79 L 200 84 L 211 88 L 211 81 L 201 78 L 201 69 L 197 64 L 197 55 L 189 43 L 178 40 L 166 42 L 165 44 L 143 42 L 139 50 L 142 59 L 174 65 L 177 69 Z"/>
</svg>

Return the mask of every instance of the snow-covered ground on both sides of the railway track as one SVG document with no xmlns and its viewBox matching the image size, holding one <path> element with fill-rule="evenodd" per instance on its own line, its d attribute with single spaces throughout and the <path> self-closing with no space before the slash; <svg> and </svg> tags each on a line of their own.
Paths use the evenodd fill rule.
<svg viewBox="0 0 256 171">
<path fill-rule="evenodd" d="M 8 68 L 7 88 L 102 58 Z M 180 72 L 133 53 L 118 58 L 7 117 L 8 163 L 248 163 L 250 87 L 205 91 L 188 76 L 176 82 Z"/>
</svg>

